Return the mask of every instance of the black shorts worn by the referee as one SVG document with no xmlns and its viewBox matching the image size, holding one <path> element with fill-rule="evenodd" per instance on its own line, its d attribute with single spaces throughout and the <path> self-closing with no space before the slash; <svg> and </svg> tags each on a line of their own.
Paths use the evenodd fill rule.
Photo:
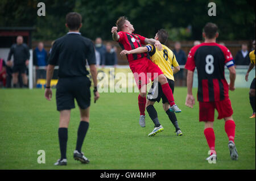
<svg viewBox="0 0 256 181">
<path fill-rule="evenodd" d="M 57 110 L 75 108 L 75 99 L 81 109 L 90 106 L 90 79 L 88 77 L 59 78 L 56 90 Z"/>
</svg>

